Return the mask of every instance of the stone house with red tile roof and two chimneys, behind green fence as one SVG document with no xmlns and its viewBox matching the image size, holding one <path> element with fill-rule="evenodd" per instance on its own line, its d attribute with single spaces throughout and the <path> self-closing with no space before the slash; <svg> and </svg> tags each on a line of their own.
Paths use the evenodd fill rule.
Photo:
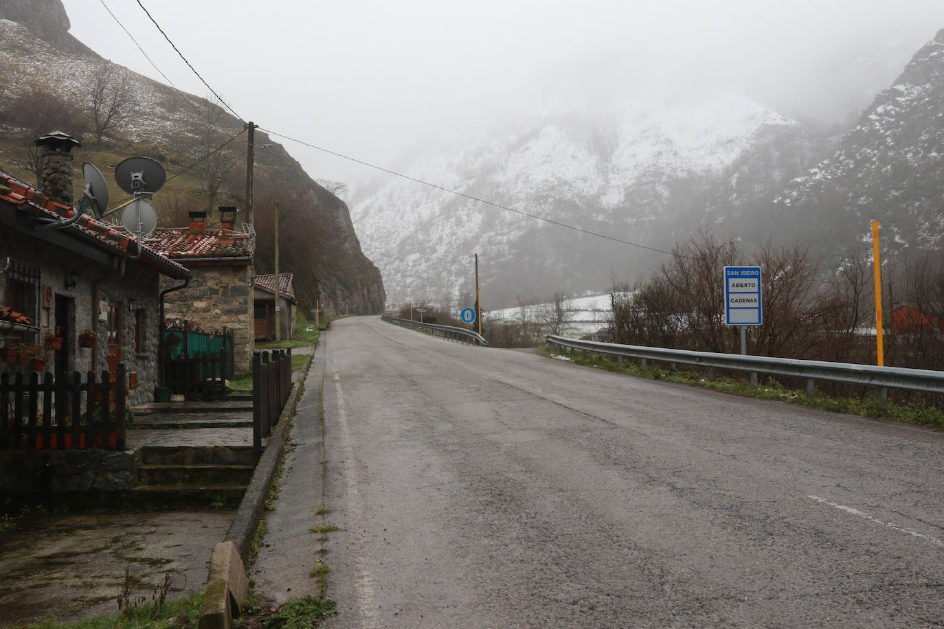
<svg viewBox="0 0 944 629">
<path fill-rule="evenodd" d="M 206 212 L 190 212 L 189 226 L 158 227 L 145 241 L 191 273 L 186 287 L 166 292 L 163 323 L 186 321 L 205 332 L 232 332 L 235 369 L 247 371 L 256 348 L 256 237 L 236 231 L 235 207 L 220 207 L 219 212 L 219 229 L 207 228 Z M 171 282 L 162 282 L 162 291 L 170 289 Z"/>
</svg>

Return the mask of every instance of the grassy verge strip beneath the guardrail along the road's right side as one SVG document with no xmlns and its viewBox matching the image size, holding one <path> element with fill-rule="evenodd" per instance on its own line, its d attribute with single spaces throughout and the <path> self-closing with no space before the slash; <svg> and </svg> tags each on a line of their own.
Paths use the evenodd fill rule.
<svg viewBox="0 0 944 629">
<path fill-rule="evenodd" d="M 545 350 L 548 356 L 553 353 Z M 564 355 L 561 355 L 564 356 Z M 915 423 L 935 428 L 944 428 L 944 412 L 934 406 L 915 406 L 915 405 L 896 405 L 889 402 L 883 408 L 878 400 L 870 398 L 846 398 L 846 397 L 828 397 L 821 392 L 817 392 L 813 397 L 807 397 L 806 392 L 797 389 L 787 389 L 773 378 L 767 378 L 766 382 L 761 382 L 757 387 L 751 387 L 744 380 L 728 377 L 716 377 L 714 381 L 709 381 L 705 372 L 696 372 L 689 370 L 678 370 L 674 375 L 668 369 L 659 364 L 649 363 L 646 368 L 640 367 L 635 362 L 624 359 L 623 367 L 616 365 L 615 359 L 609 356 L 590 355 L 586 358 L 580 353 L 570 356 L 570 360 L 579 365 L 587 365 L 605 369 L 610 372 L 626 373 L 644 378 L 655 380 L 666 380 L 692 387 L 701 387 L 702 389 L 712 389 L 721 393 L 740 395 L 760 400 L 777 400 L 788 404 L 797 404 L 801 406 L 811 406 L 830 410 L 837 413 L 850 413 L 852 415 L 862 415 L 877 419 L 891 420 L 894 422 Z"/>
</svg>

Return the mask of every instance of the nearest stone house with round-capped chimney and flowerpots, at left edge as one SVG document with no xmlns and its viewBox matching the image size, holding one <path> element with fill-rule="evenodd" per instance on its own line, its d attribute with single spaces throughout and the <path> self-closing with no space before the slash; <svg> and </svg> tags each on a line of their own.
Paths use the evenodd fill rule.
<svg viewBox="0 0 944 629">
<path fill-rule="evenodd" d="M 76 218 L 72 149 L 79 144 L 61 133 L 41 141 L 42 191 L 0 170 L 0 337 L 6 347 L 44 355 L 46 372 L 114 373 L 124 362 L 128 403 L 149 402 L 159 369 L 160 281 L 179 283 L 190 273 L 147 244 L 139 254 L 121 228 Z M 88 348 L 79 341 L 86 330 L 96 335 Z M 58 349 L 52 339 L 61 339 Z M 0 369 L 31 368 L 4 362 Z"/>
</svg>

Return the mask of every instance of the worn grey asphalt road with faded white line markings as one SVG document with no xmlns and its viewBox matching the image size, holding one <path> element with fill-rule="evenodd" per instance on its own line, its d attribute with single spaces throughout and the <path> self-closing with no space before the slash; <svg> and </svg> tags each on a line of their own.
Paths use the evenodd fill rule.
<svg viewBox="0 0 944 629">
<path fill-rule="evenodd" d="M 332 326 L 326 627 L 944 624 L 944 434 Z"/>
</svg>

